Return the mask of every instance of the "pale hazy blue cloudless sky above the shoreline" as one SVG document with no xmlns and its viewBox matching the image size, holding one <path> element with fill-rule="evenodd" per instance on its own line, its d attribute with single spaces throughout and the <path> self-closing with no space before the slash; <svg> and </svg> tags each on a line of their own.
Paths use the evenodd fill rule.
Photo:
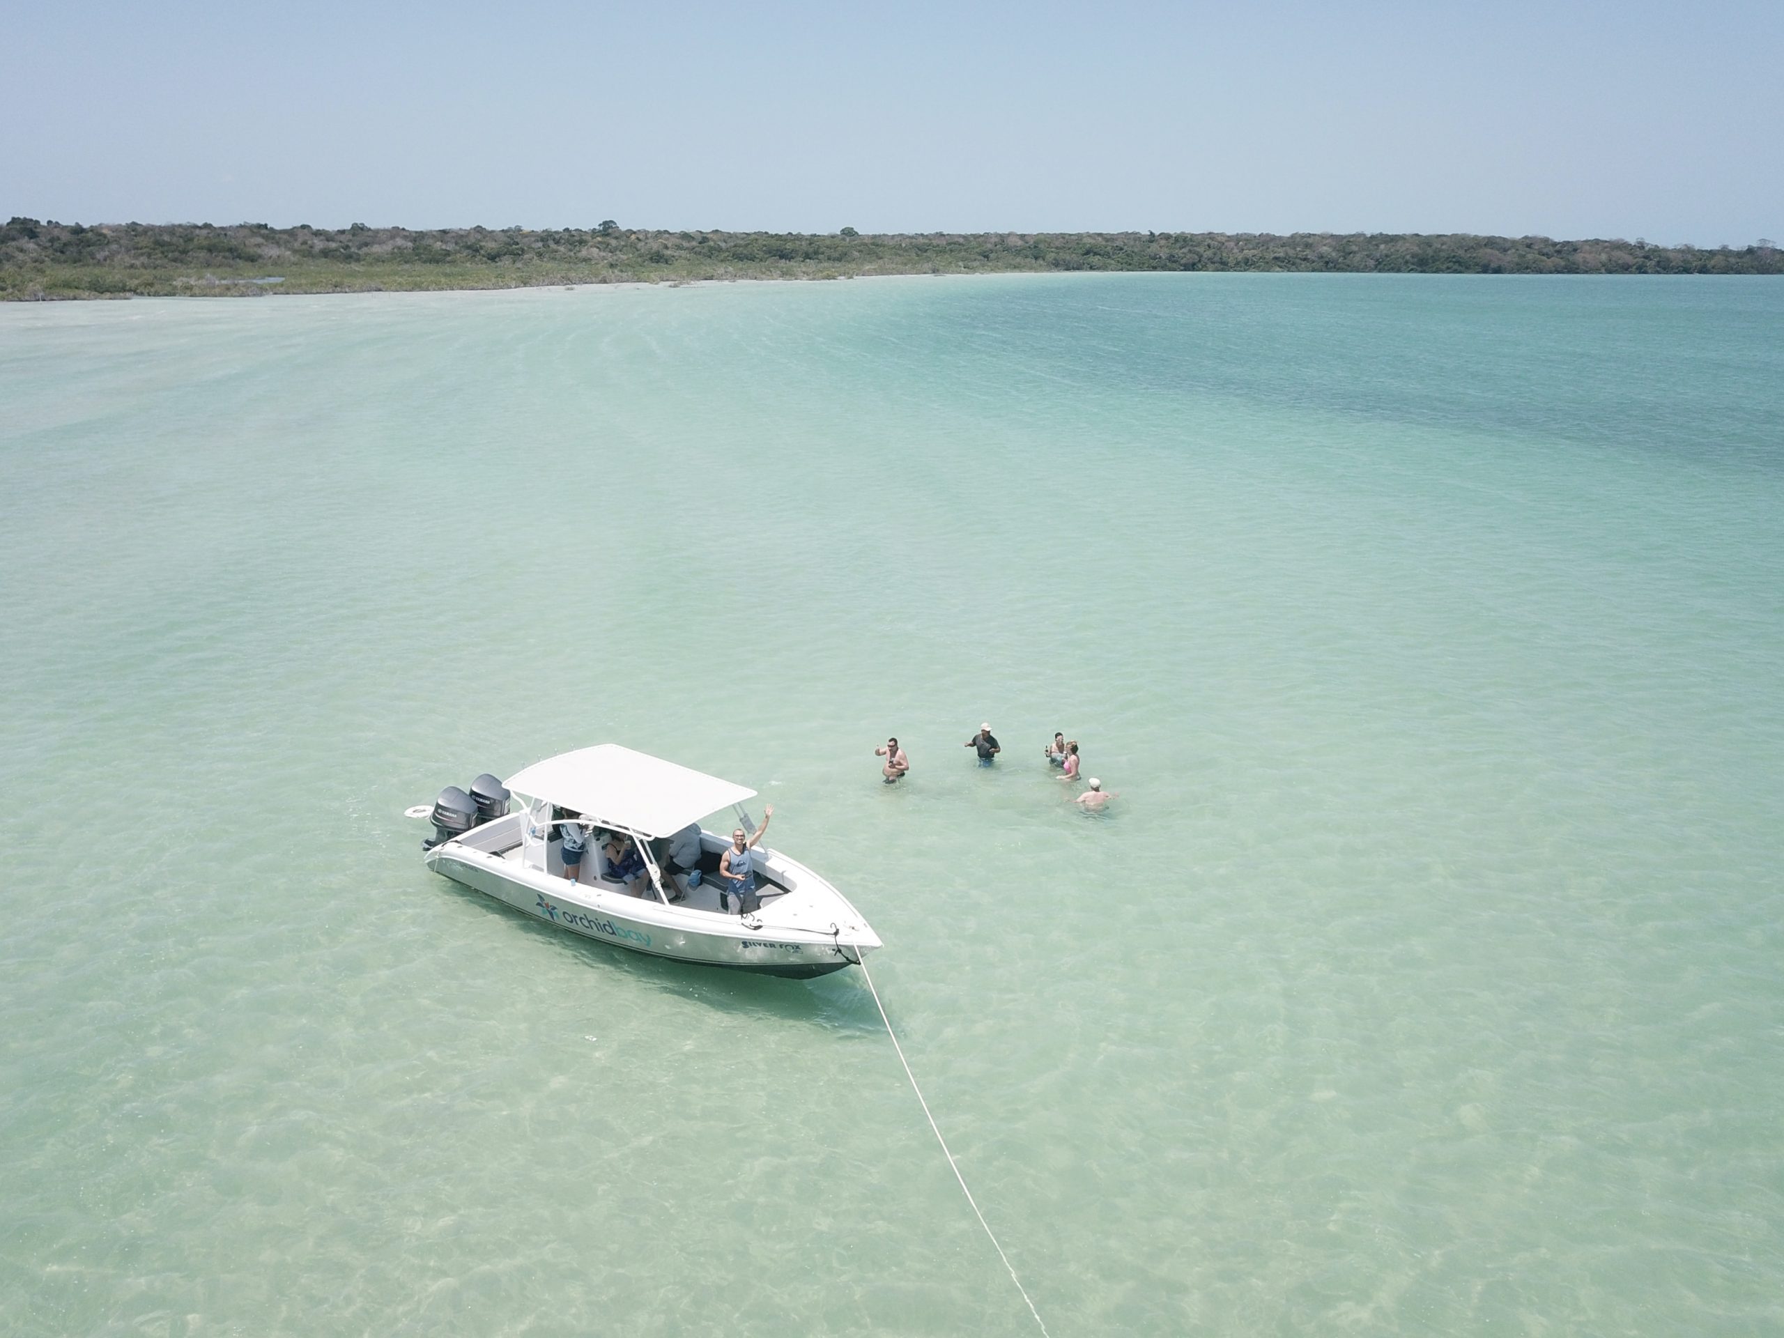
<svg viewBox="0 0 1784 1338">
<path fill-rule="evenodd" d="M 0 5 L 0 218 L 1784 237 L 1779 0 Z"/>
</svg>

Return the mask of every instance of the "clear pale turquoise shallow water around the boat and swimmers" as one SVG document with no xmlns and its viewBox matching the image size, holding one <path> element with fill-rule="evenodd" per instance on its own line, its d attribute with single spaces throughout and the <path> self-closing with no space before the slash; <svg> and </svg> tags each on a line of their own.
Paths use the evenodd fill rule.
<svg viewBox="0 0 1784 1338">
<path fill-rule="evenodd" d="M 1779 1333 L 1780 423 L 1766 280 L 0 310 L 0 1333 L 1033 1333 L 858 972 L 423 871 L 603 739 L 1054 1334 Z"/>
</svg>

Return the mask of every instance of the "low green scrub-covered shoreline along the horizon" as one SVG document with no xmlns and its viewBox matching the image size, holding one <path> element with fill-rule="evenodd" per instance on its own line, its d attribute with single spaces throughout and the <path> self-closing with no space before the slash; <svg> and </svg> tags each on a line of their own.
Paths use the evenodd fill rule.
<svg viewBox="0 0 1784 1338">
<path fill-rule="evenodd" d="M 423 293 L 990 273 L 1784 275 L 1784 252 L 1474 234 L 840 234 L 0 227 L 0 300 Z"/>
</svg>

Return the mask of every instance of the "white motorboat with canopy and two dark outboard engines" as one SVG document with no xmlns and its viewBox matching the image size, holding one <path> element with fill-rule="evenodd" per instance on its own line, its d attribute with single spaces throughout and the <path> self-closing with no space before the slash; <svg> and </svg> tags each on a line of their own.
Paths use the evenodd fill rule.
<svg viewBox="0 0 1784 1338">
<path fill-rule="evenodd" d="M 751 797 L 744 785 L 599 744 L 535 762 L 507 785 L 478 776 L 469 792 L 448 787 L 432 810 L 412 812 L 434 821 L 428 869 L 583 938 L 769 976 L 824 976 L 880 947 L 835 887 L 765 846 L 755 849 L 755 896 L 721 906 L 731 828 L 706 831 L 699 819 L 731 808 L 755 831 Z M 591 828 L 571 878 L 564 833 L 574 842 Z M 635 844 L 642 871 L 633 863 L 630 881 L 603 855 L 608 833 Z"/>
</svg>

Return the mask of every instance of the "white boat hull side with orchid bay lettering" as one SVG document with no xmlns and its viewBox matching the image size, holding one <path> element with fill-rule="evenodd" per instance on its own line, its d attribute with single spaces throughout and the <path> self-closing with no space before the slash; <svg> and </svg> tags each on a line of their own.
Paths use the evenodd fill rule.
<svg viewBox="0 0 1784 1338">
<path fill-rule="evenodd" d="M 772 924 L 751 929 L 740 917 L 571 883 L 458 842 L 428 851 L 426 863 L 455 883 L 580 938 L 703 967 L 812 979 L 851 967 L 862 951 L 880 946 L 878 938 L 853 944 L 840 935 Z"/>
</svg>

